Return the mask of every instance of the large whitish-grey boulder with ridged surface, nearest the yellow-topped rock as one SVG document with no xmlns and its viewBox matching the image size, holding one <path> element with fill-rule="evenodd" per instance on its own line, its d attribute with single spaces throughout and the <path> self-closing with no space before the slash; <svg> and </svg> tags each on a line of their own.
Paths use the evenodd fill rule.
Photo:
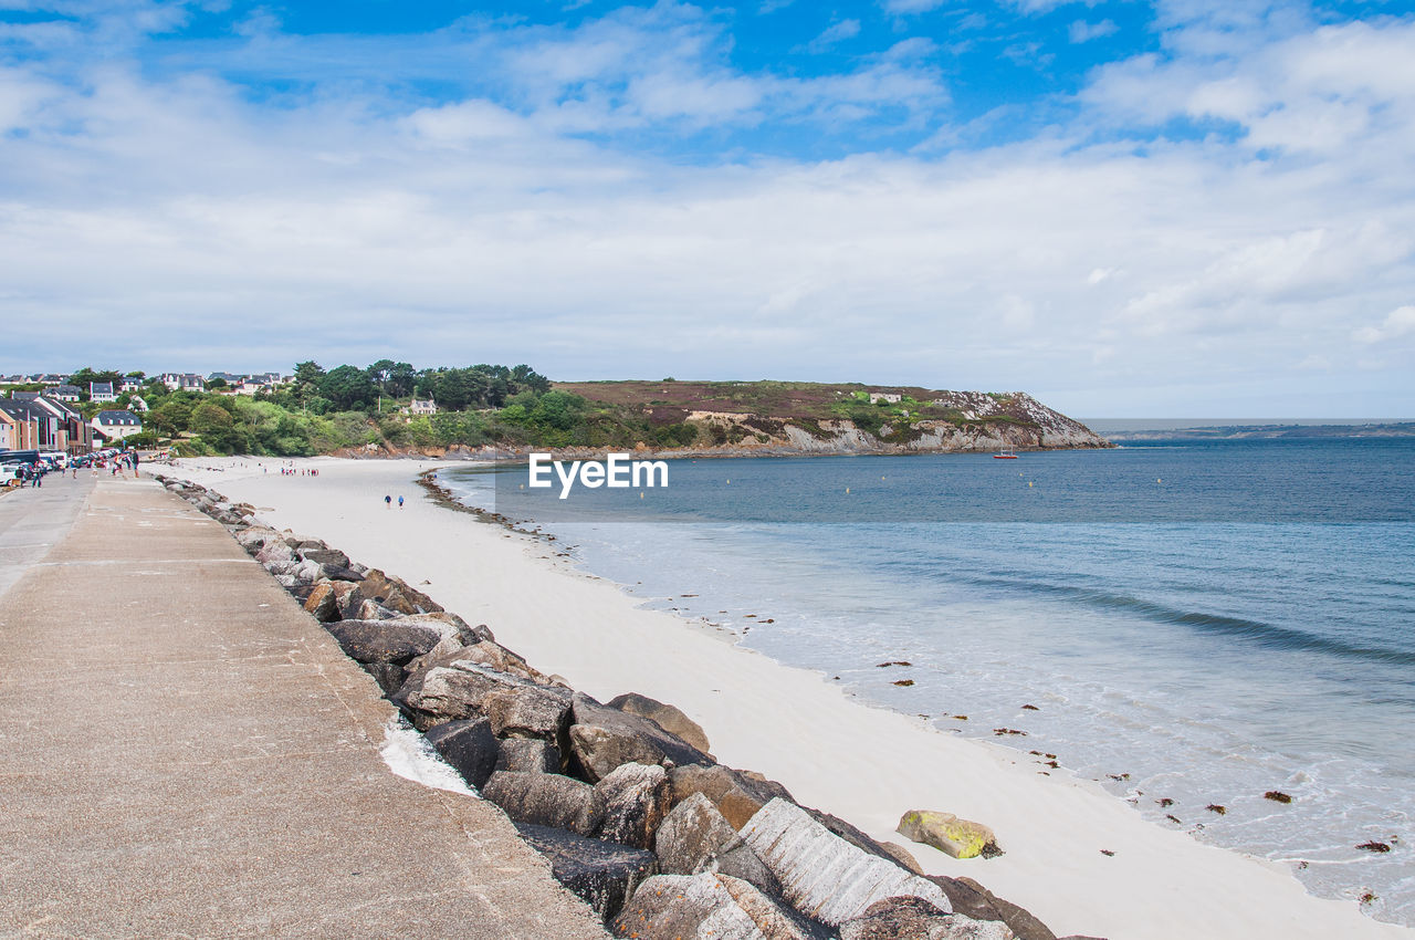
<svg viewBox="0 0 1415 940">
<path fill-rule="evenodd" d="M 850 845 L 794 803 L 771 800 L 741 835 L 781 882 L 785 899 L 822 923 L 839 926 L 877 900 L 904 895 L 952 912 L 938 885 Z"/>
</svg>

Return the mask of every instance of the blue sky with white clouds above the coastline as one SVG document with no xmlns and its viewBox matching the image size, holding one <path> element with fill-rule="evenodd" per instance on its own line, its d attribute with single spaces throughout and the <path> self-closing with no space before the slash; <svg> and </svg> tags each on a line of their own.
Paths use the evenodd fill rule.
<svg viewBox="0 0 1415 940">
<path fill-rule="evenodd" d="M 0 0 L 0 372 L 1415 418 L 1415 0 Z"/>
</svg>

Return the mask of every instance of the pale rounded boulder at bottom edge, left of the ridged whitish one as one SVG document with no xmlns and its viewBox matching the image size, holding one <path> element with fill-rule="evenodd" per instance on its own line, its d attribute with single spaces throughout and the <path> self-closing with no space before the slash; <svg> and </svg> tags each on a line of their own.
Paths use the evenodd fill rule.
<svg viewBox="0 0 1415 940">
<path fill-rule="evenodd" d="M 730 875 L 655 875 L 610 924 L 616 937 L 807 940 L 768 898 Z"/>
</svg>

